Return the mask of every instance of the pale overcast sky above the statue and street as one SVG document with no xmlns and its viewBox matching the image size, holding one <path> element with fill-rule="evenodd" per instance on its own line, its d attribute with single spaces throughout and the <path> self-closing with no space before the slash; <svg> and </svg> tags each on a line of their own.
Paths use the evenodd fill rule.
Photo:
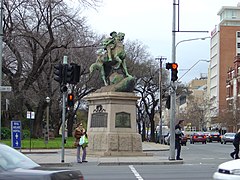
<svg viewBox="0 0 240 180">
<path fill-rule="evenodd" d="M 178 0 L 176 0 L 177 2 Z M 209 33 L 176 33 L 176 43 L 186 39 L 208 37 L 219 23 L 222 6 L 237 6 L 240 0 L 180 0 L 180 31 Z M 125 39 L 139 40 L 153 57 L 172 57 L 173 0 L 103 0 L 101 7 L 84 12 L 88 24 L 99 34 L 124 32 Z M 198 60 L 210 57 L 210 39 L 180 43 L 176 49 L 179 77 Z M 200 61 L 183 78 L 188 83 L 207 73 L 208 63 Z"/>
</svg>

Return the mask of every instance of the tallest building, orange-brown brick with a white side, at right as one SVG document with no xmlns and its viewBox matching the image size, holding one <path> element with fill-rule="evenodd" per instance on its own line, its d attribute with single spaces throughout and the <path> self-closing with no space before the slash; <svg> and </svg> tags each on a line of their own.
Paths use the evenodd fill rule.
<svg viewBox="0 0 240 180">
<path fill-rule="evenodd" d="M 234 57 L 240 55 L 240 3 L 223 6 L 218 12 L 220 23 L 211 32 L 208 97 L 210 116 L 217 117 L 227 108 L 226 80 Z"/>
</svg>

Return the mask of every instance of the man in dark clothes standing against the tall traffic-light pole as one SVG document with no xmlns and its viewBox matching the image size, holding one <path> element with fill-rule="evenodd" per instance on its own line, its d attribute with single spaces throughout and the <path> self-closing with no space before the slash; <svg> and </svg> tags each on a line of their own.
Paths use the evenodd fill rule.
<svg viewBox="0 0 240 180">
<path fill-rule="evenodd" d="M 181 138 L 183 136 L 182 128 L 183 128 L 184 120 L 179 120 L 178 124 L 175 126 L 175 149 L 177 149 L 177 160 L 183 160 L 180 157 L 181 153 Z"/>
</svg>

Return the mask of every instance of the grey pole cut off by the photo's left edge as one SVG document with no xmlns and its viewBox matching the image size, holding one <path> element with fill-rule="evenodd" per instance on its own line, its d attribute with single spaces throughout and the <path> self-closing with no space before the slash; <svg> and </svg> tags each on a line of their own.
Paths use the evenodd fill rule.
<svg viewBox="0 0 240 180">
<path fill-rule="evenodd" d="M 2 37 L 3 37 L 3 0 L 1 0 L 1 20 L 0 20 L 0 86 L 2 86 Z M 0 91 L 0 140 L 2 128 L 2 92 Z"/>
</svg>

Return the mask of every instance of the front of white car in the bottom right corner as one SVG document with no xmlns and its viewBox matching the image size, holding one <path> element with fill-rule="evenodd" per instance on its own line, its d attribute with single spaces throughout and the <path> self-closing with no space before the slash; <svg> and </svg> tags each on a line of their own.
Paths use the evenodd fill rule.
<svg viewBox="0 0 240 180">
<path fill-rule="evenodd" d="M 227 161 L 218 166 L 217 172 L 213 174 L 216 180 L 239 180 L 240 179 L 240 159 Z"/>
</svg>

